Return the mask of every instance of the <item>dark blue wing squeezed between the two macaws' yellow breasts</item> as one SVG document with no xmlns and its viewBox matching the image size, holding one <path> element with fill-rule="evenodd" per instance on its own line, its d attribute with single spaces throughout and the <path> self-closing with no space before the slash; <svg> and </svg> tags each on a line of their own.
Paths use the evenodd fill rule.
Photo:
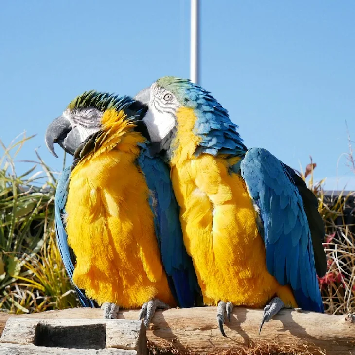
<svg viewBox="0 0 355 355">
<path fill-rule="evenodd" d="M 155 196 L 151 209 L 155 215 L 156 235 L 169 286 L 180 307 L 193 307 L 199 287 L 192 260 L 182 239 L 179 209 L 170 181 L 170 170 L 159 157 L 151 157 L 144 148 L 138 163 L 148 188 Z"/>
</svg>

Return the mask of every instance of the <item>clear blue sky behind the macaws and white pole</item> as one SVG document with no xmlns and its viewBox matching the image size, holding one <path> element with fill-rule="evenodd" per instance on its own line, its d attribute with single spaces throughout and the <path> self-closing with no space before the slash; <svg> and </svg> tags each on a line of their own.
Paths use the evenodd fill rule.
<svg viewBox="0 0 355 355">
<path fill-rule="evenodd" d="M 200 2 L 201 85 L 246 145 L 296 169 L 312 155 L 316 177 L 342 188 L 352 176 L 345 158 L 337 170 L 345 120 L 355 140 L 355 2 Z M 37 133 L 18 159 L 39 147 L 60 169 L 44 144 L 47 124 L 85 90 L 134 95 L 160 76 L 188 77 L 189 34 L 189 0 L 2 1 L 1 140 Z"/>
</svg>

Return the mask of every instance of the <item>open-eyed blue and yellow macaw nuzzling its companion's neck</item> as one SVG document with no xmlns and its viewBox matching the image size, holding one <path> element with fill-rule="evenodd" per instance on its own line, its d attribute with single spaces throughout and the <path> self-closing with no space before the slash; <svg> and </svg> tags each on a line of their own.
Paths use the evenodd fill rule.
<svg viewBox="0 0 355 355">
<path fill-rule="evenodd" d="M 144 122 L 171 166 L 183 239 L 206 304 L 323 311 L 316 273 L 326 272 L 317 199 L 265 149 L 247 150 L 227 111 L 187 79 L 144 89 Z"/>
</svg>

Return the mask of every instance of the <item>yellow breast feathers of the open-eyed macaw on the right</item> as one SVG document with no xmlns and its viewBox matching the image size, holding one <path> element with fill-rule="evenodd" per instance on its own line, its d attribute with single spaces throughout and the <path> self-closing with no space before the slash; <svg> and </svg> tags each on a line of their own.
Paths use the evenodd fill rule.
<svg viewBox="0 0 355 355">
<path fill-rule="evenodd" d="M 181 108 L 177 120 L 193 114 L 192 109 Z M 267 272 L 264 241 L 243 179 L 229 172 L 231 161 L 226 157 L 195 157 L 199 138 L 186 122 L 193 121 L 190 117 L 178 122 L 171 177 L 181 207 L 184 243 L 205 303 L 222 300 L 259 307 L 278 294 L 296 306 L 289 287 L 280 286 Z"/>
</svg>

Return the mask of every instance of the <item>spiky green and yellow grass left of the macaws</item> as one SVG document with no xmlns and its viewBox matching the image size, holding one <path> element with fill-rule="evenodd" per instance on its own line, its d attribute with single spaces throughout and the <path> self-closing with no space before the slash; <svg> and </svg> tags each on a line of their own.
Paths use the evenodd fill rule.
<svg viewBox="0 0 355 355">
<path fill-rule="evenodd" d="M 56 178 L 38 154 L 16 174 L 14 160 L 30 138 L 0 141 L 0 310 L 17 314 L 78 304 L 55 242 Z"/>
</svg>

